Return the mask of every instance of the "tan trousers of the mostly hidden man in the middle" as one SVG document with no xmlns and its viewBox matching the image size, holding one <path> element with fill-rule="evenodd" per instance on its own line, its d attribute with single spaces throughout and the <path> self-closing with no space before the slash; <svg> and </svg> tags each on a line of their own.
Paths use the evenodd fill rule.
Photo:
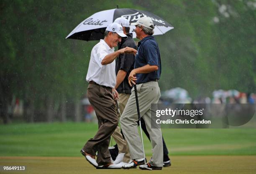
<svg viewBox="0 0 256 174">
<path fill-rule="evenodd" d="M 119 93 L 119 100 L 118 100 L 118 106 L 120 109 L 120 114 L 122 115 L 123 110 L 126 106 L 126 103 L 129 99 L 131 94 L 128 93 Z M 118 114 L 118 117 L 120 118 L 120 114 Z M 123 135 L 121 134 L 120 126 L 117 126 L 115 128 L 114 133 L 112 134 L 113 139 L 115 140 L 116 144 L 118 145 L 118 151 L 119 153 L 125 153 L 125 156 L 123 158 L 123 162 L 128 163 L 131 159 L 130 151 L 128 148 L 128 144 L 123 139 Z"/>
</svg>

